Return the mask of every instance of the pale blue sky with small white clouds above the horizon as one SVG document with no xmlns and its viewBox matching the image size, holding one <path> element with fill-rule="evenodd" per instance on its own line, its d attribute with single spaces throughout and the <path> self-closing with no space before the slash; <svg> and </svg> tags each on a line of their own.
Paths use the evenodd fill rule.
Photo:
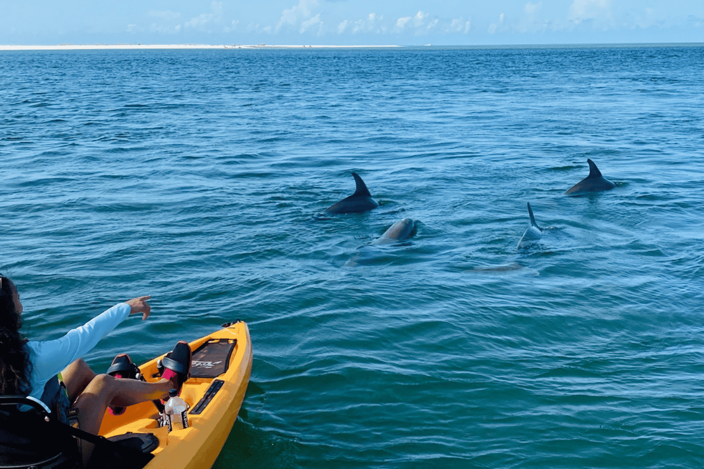
<svg viewBox="0 0 704 469">
<path fill-rule="evenodd" d="M 0 0 L 0 44 L 704 42 L 704 0 Z"/>
</svg>

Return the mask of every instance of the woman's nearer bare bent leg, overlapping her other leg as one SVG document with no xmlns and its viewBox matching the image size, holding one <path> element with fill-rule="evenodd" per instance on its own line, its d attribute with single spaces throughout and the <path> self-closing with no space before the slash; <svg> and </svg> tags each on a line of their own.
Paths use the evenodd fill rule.
<svg viewBox="0 0 704 469">
<path fill-rule="evenodd" d="M 81 430 L 98 435 L 108 405 L 126 407 L 164 398 L 168 396 L 172 387 L 174 387 L 172 381 L 164 379 L 157 383 L 146 383 L 139 380 L 117 379 L 106 374 L 95 375 L 73 404 L 79 409 L 78 425 Z M 93 452 L 93 445 L 81 442 L 81 451 L 85 467 Z"/>
</svg>

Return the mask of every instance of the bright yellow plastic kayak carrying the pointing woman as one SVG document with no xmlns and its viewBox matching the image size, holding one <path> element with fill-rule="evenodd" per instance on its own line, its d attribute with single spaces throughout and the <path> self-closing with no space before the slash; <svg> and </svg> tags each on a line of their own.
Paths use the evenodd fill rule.
<svg viewBox="0 0 704 469">
<path fill-rule="evenodd" d="M 158 424 L 159 413 L 151 402 L 127 407 L 113 416 L 106 412 L 100 435 L 115 437 L 126 432 L 152 433 L 158 446 L 144 469 L 210 468 L 232 430 L 252 369 L 252 345 L 246 323 L 237 321 L 189 344 L 193 353 L 191 378 L 181 397 L 189 404 L 188 428 L 168 431 Z M 158 356 L 139 367 L 149 382 L 159 380 Z"/>
</svg>

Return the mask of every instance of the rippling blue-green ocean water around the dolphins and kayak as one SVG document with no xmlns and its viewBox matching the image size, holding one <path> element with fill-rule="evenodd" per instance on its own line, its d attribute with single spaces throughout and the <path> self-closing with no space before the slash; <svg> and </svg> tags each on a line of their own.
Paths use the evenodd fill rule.
<svg viewBox="0 0 704 469">
<path fill-rule="evenodd" d="M 98 371 L 249 323 L 218 469 L 698 468 L 703 90 L 703 46 L 4 51 L 0 271 L 37 340 L 153 296 Z M 381 207 L 322 214 L 351 172 Z"/>
</svg>

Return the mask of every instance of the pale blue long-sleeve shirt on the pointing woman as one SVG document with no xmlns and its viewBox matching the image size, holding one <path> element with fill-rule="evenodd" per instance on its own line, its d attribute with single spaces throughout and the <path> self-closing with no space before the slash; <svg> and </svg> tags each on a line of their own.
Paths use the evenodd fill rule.
<svg viewBox="0 0 704 469">
<path fill-rule="evenodd" d="M 127 303 L 115 304 L 80 328 L 69 330 L 62 338 L 27 342 L 32 363 L 30 396 L 40 399 L 47 381 L 74 360 L 90 352 L 107 333 L 130 315 L 130 310 Z"/>
</svg>

